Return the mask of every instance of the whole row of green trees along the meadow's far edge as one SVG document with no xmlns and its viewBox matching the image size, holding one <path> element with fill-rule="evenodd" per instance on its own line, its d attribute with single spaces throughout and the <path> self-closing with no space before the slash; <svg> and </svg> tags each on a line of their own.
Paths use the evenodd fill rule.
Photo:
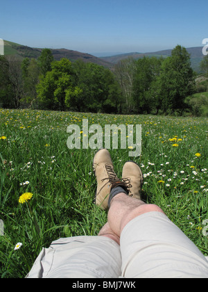
<svg viewBox="0 0 208 292">
<path fill-rule="evenodd" d="M 207 70 L 206 57 L 202 62 Z M 208 71 L 208 70 L 207 70 Z M 54 60 L 50 49 L 19 61 L 0 56 L 0 106 L 92 113 L 191 113 L 196 74 L 180 45 L 168 58 L 128 58 L 112 70 Z"/>
</svg>

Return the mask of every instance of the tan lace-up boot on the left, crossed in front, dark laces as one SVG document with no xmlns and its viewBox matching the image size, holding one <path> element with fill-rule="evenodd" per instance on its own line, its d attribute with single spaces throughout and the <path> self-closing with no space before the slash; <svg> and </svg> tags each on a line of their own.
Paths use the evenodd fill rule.
<svg viewBox="0 0 208 292">
<path fill-rule="evenodd" d="M 122 186 L 126 190 L 127 188 L 125 183 L 119 180 L 114 172 L 114 165 L 107 149 L 101 149 L 96 152 L 93 168 L 98 184 L 96 190 L 96 205 L 101 206 L 101 208 L 105 210 L 108 207 L 108 200 L 112 188 L 116 186 Z"/>
</svg>

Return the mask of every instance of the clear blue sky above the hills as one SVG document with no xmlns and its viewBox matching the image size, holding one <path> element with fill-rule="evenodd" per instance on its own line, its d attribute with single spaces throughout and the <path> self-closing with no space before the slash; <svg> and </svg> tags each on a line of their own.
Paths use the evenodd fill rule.
<svg viewBox="0 0 208 292">
<path fill-rule="evenodd" d="M 0 38 L 91 54 L 200 47 L 207 11 L 207 0 L 6 0 Z"/>
</svg>

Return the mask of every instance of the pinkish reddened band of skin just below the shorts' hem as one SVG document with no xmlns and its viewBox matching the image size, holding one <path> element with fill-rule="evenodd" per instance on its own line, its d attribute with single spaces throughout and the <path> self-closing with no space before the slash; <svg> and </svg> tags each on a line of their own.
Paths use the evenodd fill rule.
<svg viewBox="0 0 208 292">
<path fill-rule="evenodd" d="M 123 218 L 123 220 L 121 221 L 121 231 L 123 230 L 125 225 L 127 225 L 128 222 L 130 222 L 132 219 L 148 212 L 164 213 L 164 211 L 162 211 L 162 209 L 155 204 L 142 204 L 141 206 L 133 209 L 127 216 L 125 216 L 125 218 Z"/>
</svg>

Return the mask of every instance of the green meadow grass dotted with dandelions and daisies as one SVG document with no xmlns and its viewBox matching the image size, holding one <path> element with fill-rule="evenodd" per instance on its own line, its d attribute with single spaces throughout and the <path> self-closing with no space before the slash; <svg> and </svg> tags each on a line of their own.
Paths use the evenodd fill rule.
<svg viewBox="0 0 208 292">
<path fill-rule="evenodd" d="M 42 250 L 60 237 L 97 235 L 107 213 L 93 204 L 96 149 L 67 148 L 67 126 L 141 124 L 142 195 L 208 255 L 207 119 L 0 109 L 1 277 L 25 277 Z M 177 147 L 173 147 L 177 144 Z M 111 149 L 121 177 L 129 149 Z M 200 156 L 196 156 L 200 153 Z M 23 193 L 33 193 L 25 204 Z M 1 231 L 1 230 L 0 230 Z M 1 232 L 2 233 L 2 232 Z M 23 245 L 14 250 L 17 243 Z"/>
</svg>

